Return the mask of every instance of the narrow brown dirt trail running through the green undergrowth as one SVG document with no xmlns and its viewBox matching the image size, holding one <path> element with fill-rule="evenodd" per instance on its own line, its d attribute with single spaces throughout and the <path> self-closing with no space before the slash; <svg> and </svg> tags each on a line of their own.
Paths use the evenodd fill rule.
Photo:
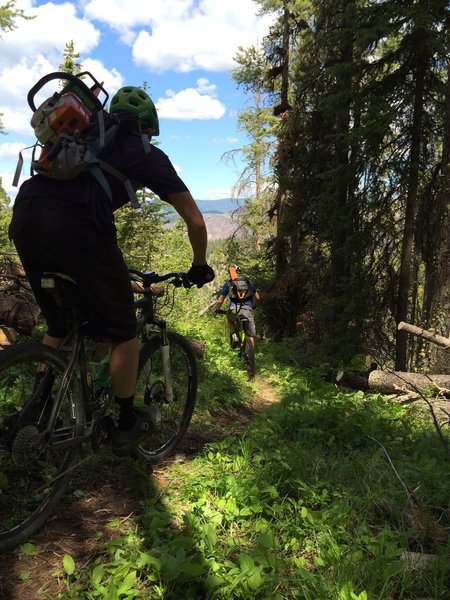
<svg viewBox="0 0 450 600">
<path fill-rule="evenodd" d="M 257 414 L 277 401 L 274 390 L 264 380 L 257 378 L 255 387 L 251 405 L 215 417 L 206 425 L 193 423 L 175 460 L 189 460 L 205 444 L 240 433 Z M 153 480 L 164 480 L 167 471 L 167 465 L 158 466 Z M 0 599 L 56 598 L 65 589 L 64 554 L 73 557 L 77 570 L 88 567 L 105 542 L 119 534 L 118 524 L 123 527 L 140 513 L 141 478 L 142 474 L 129 468 L 127 460 L 120 461 L 109 453 L 102 467 L 93 467 L 87 477 L 84 472 L 75 476 L 70 494 L 33 540 L 36 556 L 26 556 L 18 549 L 0 554 Z"/>
</svg>

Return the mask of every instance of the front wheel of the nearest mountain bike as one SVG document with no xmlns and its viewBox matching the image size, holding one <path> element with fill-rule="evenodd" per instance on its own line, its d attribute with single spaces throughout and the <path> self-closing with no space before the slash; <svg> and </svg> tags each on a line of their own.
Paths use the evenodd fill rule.
<svg viewBox="0 0 450 600">
<path fill-rule="evenodd" d="M 197 398 L 197 362 L 183 336 L 168 332 L 174 399 L 167 399 L 161 360 L 161 338 L 154 336 L 141 348 L 136 386 L 136 408 L 156 405 L 161 423 L 136 449 L 136 456 L 158 462 L 174 451 L 191 421 Z"/>
</svg>

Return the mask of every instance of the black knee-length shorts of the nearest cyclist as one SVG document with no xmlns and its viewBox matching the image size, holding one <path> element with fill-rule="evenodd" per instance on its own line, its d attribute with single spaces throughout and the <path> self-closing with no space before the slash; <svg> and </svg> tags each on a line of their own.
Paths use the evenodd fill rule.
<svg viewBox="0 0 450 600">
<path fill-rule="evenodd" d="M 42 289 L 45 271 L 64 272 L 78 284 L 89 333 L 120 343 L 136 334 L 133 293 L 114 226 L 99 231 L 86 204 L 56 198 L 27 198 L 14 207 L 9 234 L 42 314 L 48 334 L 64 337 L 65 318 Z"/>
</svg>

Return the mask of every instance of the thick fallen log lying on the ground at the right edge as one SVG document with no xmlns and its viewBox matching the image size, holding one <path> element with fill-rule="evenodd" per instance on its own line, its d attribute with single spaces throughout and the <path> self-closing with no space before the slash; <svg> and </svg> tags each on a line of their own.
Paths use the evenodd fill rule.
<svg viewBox="0 0 450 600">
<path fill-rule="evenodd" d="M 336 383 L 347 388 L 374 394 L 431 393 L 450 398 L 450 375 L 425 375 L 400 371 L 339 371 Z"/>
</svg>

